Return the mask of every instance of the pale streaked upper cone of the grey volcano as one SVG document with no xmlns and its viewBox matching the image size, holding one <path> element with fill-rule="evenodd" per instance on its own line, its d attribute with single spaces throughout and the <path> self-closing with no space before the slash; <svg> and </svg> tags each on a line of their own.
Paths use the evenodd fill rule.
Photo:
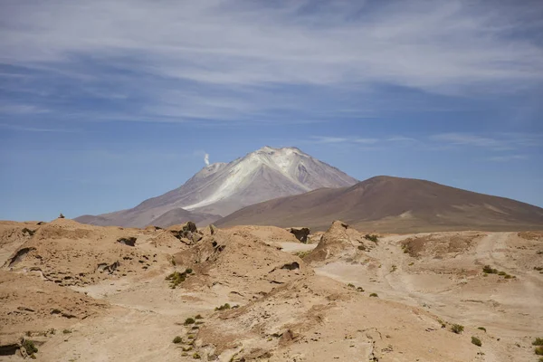
<svg viewBox="0 0 543 362">
<path fill-rule="evenodd" d="M 181 207 L 186 210 L 210 208 L 227 200 L 249 204 L 248 201 L 254 203 L 319 187 L 348 186 L 356 182 L 299 148 L 266 146 L 229 164 L 214 165 L 197 174 L 196 180 L 205 182 L 205 189 L 202 188 L 198 197 L 190 197 L 189 203 L 183 203 Z"/>
</svg>

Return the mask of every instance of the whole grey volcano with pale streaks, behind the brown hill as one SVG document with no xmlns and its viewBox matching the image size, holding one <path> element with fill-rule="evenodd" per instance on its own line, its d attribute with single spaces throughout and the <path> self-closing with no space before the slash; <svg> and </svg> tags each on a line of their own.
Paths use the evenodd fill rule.
<svg viewBox="0 0 543 362">
<path fill-rule="evenodd" d="M 174 209 L 178 215 L 213 222 L 217 218 L 258 202 L 296 195 L 329 186 L 350 186 L 357 180 L 300 148 L 263 147 L 230 163 L 203 167 L 182 186 L 149 198 L 133 208 L 109 214 L 83 215 L 86 224 L 144 227 Z M 174 224 L 188 221 L 182 217 Z M 167 219 L 167 218 L 166 218 Z M 168 219 L 169 220 L 169 219 Z M 173 220 L 172 220 L 173 222 Z"/>
</svg>

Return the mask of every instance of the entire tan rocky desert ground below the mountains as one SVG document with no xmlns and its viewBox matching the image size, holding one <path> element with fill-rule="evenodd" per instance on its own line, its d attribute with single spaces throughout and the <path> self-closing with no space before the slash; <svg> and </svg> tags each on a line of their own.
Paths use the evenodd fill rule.
<svg viewBox="0 0 543 362">
<path fill-rule="evenodd" d="M 543 338 L 543 232 L 2 222 L 0 265 L 6 361 L 538 361 Z"/>
</svg>

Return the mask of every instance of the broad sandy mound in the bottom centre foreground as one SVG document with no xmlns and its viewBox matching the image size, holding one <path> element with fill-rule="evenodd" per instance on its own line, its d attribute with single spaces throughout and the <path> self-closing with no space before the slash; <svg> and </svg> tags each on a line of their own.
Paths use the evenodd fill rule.
<svg viewBox="0 0 543 362">
<path fill-rule="evenodd" d="M 204 360 L 466 361 L 479 351 L 472 330 L 455 335 L 424 310 L 317 276 L 217 311 L 196 332 L 193 348 Z"/>
</svg>

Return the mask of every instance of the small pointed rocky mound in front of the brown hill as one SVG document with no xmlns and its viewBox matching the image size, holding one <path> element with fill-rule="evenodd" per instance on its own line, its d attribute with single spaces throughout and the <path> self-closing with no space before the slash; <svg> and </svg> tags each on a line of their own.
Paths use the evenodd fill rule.
<svg viewBox="0 0 543 362">
<path fill-rule="evenodd" d="M 317 247 L 304 257 L 305 262 L 334 262 L 338 259 L 357 261 L 363 252 L 371 249 L 364 235 L 348 224 L 335 221 L 326 233 L 322 234 Z"/>
</svg>

